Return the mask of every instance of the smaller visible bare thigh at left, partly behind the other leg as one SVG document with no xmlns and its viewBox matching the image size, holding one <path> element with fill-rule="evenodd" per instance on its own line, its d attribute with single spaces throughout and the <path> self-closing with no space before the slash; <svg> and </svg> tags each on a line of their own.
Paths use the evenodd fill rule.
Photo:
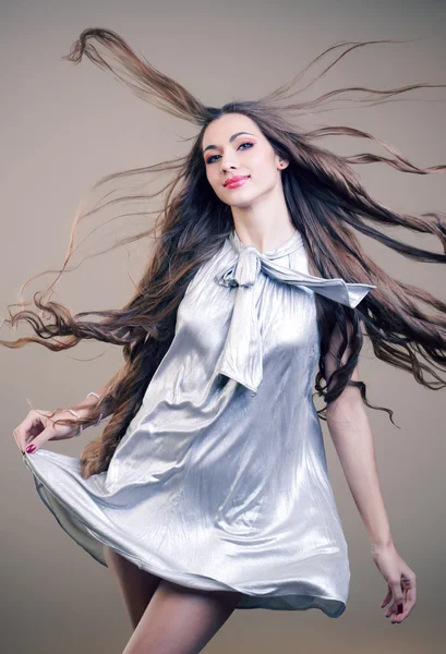
<svg viewBox="0 0 446 654">
<path fill-rule="evenodd" d="M 118 581 L 132 627 L 135 629 L 158 586 L 159 577 L 140 570 L 132 561 L 107 545 L 104 546 L 104 555 L 107 566 Z"/>
</svg>

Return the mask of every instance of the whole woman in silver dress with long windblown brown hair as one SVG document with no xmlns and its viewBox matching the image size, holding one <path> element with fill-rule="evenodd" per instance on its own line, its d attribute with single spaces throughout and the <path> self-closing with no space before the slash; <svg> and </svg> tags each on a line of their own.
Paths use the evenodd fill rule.
<svg viewBox="0 0 446 654">
<path fill-rule="evenodd" d="M 364 45 L 341 44 L 323 56 L 340 48 L 338 61 Z M 198 652 L 234 608 L 343 613 L 347 543 L 318 417 L 327 420 L 387 583 L 385 616 L 400 623 L 415 604 L 415 574 L 398 554 L 379 489 L 364 410 L 372 405 L 359 380 L 362 327 L 378 359 L 443 388 L 435 371 L 446 363 L 446 305 L 389 277 L 353 230 L 414 259 L 445 263 L 444 254 L 377 227 L 435 234 L 445 247 L 446 222 L 437 214 L 384 207 L 350 164 L 382 161 L 419 174 L 446 167 L 417 168 L 377 140 L 391 158 L 335 155 L 313 142 L 373 137 L 346 126 L 303 133 L 286 120 L 287 111 L 320 110 L 349 89 L 282 104 L 294 80 L 262 100 L 215 109 L 110 31 L 84 31 L 65 59 L 79 62 L 84 53 L 138 96 L 155 96 L 170 113 L 201 125 L 188 156 L 136 171 L 177 175 L 131 301 L 83 320 L 88 313 L 72 316 L 36 295 L 47 323 L 22 311 L 11 324 L 27 320 L 37 337 L 2 341 L 60 351 L 94 338 L 123 347 L 125 365 L 101 389 L 72 409 L 32 410 L 14 437 L 61 526 L 116 576 L 134 627 L 124 653 Z M 408 87 L 355 90 L 387 98 Z M 73 234 L 70 243 L 65 265 Z M 415 300 L 438 314 L 423 313 Z M 437 382 L 429 383 L 424 371 Z M 314 375 L 322 411 L 311 399 Z M 80 459 L 43 447 L 107 416 Z"/>
</svg>

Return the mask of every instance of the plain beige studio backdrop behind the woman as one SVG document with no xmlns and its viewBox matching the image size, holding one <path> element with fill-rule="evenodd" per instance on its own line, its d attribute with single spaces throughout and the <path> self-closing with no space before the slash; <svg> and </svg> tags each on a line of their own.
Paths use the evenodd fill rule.
<svg viewBox="0 0 446 654">
<path fill-rule="evenodd" d="M 446 82 L 444 1 L 2 0 L 0 25 L 2 318 L 25 279 L 62 264 L 77 203 L 99 178 L 182 154 L 188 144 L 181 140 L 195 133 L 195 128 L 137 99 L 87 59 L 80 66 L 61 61 L 85 27 L 116 29 L 156 68 L 214 106 L 261 97 L 340 40 L 424 37 L 357 52 L 317 89 Z M 417 101 L 338 111 L 322 119 L 369 130 L 417 165 L 445 164 L 446 89 L 411 97 Z M 343 152 L 373 147 L 357 141 L 325 143 Z M 358 170 L 379 201 L 399 210 L 446 209 L 445 174 L 417 177 L 384 166 Z M 439 252 L 429 237 L 403 238 Z M 414 264 L 374 242 L 363 243 L 391 274 L 446 299 L 444 266 Z M 144 264 L 144 247 L 132 251 L 133 276 Z M 59 299 L 75 311 L 122 306 L 133 288 L 128 271 L 123 249 L 87 261 L 61 284 Z M 48 277 L 32 286 L 33 292 L 46 281 Z M 0 336 L 12 340 L 22 332 L 31 334 L 3 327 Z M 68 537 L 41 504 L 12 432 L 29 409 L 26 398 L 39 409 L 74 404 L 114 373 L 121 353 L 100 343 L 82 343 L 58 355 L 28 346 L 16 351 L 0 348 L 0 362 L 2 651 L 119 654 L 131 631 L 111 576 Z M 206 652 L 444 651 L 446 391 L 422 388 L 408 374 L 375 361 L 369 347 L 361 370 L 370 401 L 394 409 L 400 426 L 394 427 L 386 413 L 369 411 L 394 538 L 418 574 L 415 609 L 400 626 L 383 617 L 379 604 L 386 584 L 371 560 L 324 424 L 330 479 L 349 543 L 347 611 L 329 619 L 317 610 L 239 610 Z M 83 440 L 47 447 L 77 456 L 97 435 L 89 429 Z"/>
</svg>

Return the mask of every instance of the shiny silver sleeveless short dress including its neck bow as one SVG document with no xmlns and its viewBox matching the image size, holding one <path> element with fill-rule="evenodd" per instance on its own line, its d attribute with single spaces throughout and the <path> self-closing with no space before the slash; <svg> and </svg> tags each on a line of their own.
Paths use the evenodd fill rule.
<svg viewBox="0 0 446 654">
<path fill-rule="evenodd" d="M 346 609 L 348 549 L 313 404 L 314 293 L 355 306 L 372 289 L 309 274 L 301 235 L 261 253 L 232 230 L 196 272 L 174 338 L 106 472 L 23 455 L 59 524 L 100 564 L 138 568 L 237 608 Z"/>
</svg>

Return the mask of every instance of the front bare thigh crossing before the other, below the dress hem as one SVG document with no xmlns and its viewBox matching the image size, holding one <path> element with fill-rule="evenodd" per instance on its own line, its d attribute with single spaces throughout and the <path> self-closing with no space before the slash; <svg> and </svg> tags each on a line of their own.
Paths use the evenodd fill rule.
<svg viewBox="0 0 446 654">
<path fill-rule="evenodd" d="M 122 654 L 197 654 L 242 593 L 197 591 L 162 579 Z"/>
</svg>

